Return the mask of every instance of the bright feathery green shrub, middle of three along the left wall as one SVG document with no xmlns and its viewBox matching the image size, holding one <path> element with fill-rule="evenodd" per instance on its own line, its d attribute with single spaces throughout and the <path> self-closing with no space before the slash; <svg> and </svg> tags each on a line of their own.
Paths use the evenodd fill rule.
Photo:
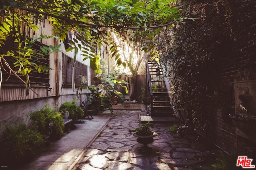
<svg viewBox="0 0 256 170">
<path fill-rule="evenodd" d="M 46 104 L 42 109 L 29 114 L 30 127 L 47 136 L 61 137 L 64 133 L 64 123 L 61 113 Z M 49 126 L 51 124 L 52 126 Z"/>
</svg>

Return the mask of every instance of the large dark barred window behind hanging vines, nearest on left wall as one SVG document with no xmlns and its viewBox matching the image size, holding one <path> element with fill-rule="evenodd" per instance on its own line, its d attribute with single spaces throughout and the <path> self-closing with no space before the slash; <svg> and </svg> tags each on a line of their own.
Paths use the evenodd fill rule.
<svg viewBox="0 0 256 170">
<path fill-rule="evenodd" d="M 3 46 L 3 48 L 0 48 L 0 53 L 4 54 L 7 51 L 17 51 L 18 49 L 18 43 L 14 43 L 13 42 L 14 39 L 7 39 L 5 42 L 5 45 Z M 37 65 L 42 65 L 42 66 L 50 66 L 50 59 L 49 59 L 49 55 L 37 55 L 37 53 L 42 53 L 44 54 L 44 52 L 42 52 L 42 50 L 40 49 L 40 47 L 42 47 L 43 44 L 36 41 L 33 46 L 31 47 L 31 49 L 34 50 L 34 57 L 31 57 L 31 59 L 29 59 L 30 62 L 36 63 Z M 46 45 L 44 45 L 46 46 Z M 16 53 L 17 55 L 17 53 Z M 6 59 L 6 61 L 10 64 L 10 68 L 12 70 L 14 70 L 15 72 L 18 71 L 19 67 L 14 67 L 14 58 L 11 56 L 5 56 L 4 59 Z M 12 86 L 12 84 L 15 83 L 15 85 L 19 85 L 22 84 L 23 82 L 21 82 L 12 72 L 10 72 L 9 68 L 5 65 L 2 64 L 2 76 L 3 76 L 3 84 L 6 84 L 6 86 Z M 20 78 L 22 78 L 22 80 L 26 81 L 26 77 L 20 75 Z M 49 72 L 38 72 L 37 70 L 32 70 L 29 74 L 30 77 L 30 84 L 39 84 L 40 86 L 49 86 L 49 80 L 50 80 L 50 74 Z"/>
</svg>

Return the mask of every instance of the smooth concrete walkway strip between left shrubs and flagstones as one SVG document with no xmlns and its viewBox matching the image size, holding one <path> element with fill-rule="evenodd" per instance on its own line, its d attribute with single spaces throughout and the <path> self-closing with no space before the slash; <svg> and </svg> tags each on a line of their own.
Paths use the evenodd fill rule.
<svg viewBox="0 0 256 170">
<path fill-rule="evenodd" d="M 50 141 L 46 148 L 31 162 L 22 165 L 20 170 L 68 170 L 75 165 L 84 149 L 111 118 L 110 111 L 93 115 L 94 119 L 85 119 L 84 123 L 75 123 L 76 129 L 58 141 Z"/>
</svg>

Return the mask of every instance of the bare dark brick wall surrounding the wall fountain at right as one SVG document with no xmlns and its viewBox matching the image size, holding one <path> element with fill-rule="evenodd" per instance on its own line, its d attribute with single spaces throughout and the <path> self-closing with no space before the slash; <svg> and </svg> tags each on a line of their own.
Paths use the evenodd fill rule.
<svg viewBox="0 0 256 170">
<path fill-rule="evenodd" d="M 247 10 L 251 16 L 247 16 L 244 23 L 236 25 L 236 41 L 223 44 L 222 51 L 216 56 L 216 79 L 213 86 L 217 92 L 217 104 L 215 110 L 212 110 L 215 127 L 211 139 L 230 154 L 253 156 L 256 159 L 256 143 L 236 135 L 235 127 L 228 117 L 228 114 L 235 112 L 233 82 L 238 68 L 254 67 L 256 64 L 256 22 L 252 20 L 255 20 L 255 12 L 252 8 Z M 252 148 L 252 154 L 248 152 L 248 147 Z"/>
</svg>

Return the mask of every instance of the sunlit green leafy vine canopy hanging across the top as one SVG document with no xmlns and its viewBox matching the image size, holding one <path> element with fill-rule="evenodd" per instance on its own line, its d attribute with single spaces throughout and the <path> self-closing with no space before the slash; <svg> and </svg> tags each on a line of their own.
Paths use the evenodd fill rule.
<svg viewBox="0 0 256 170">
<path fill-rule="evenodd" d="M 70 30 L 77 36 L 76 39 L 69 40 L 71 46 L 67 51 L 74 50 L 77 53 L 81 50 L 84 52 L 84 60 L 92 60 L 95 47 L 102 43 L 113 46 L 110 53 L 113 53 L 112 57 L 116 60 L 119 59 L 111 31 L 123 37 L 124 41 L 134 41 L 146 52 L 151 50 L 154 55 L 154 35 L 162 27 L 172 26 L 185 18 L 182 16 L 182 9 L 178 8 L 178 3 L 177 0 L 2 0 L 0 47 L 4 47 L 6 39 L 12 37 L 13 42 L 19 43 L 19 54 L 11 51 L 1 54 L 0 66 L 8 66 L 4 58 L 12 56 L 15 66 L 20 69 L 18 72 L 11 71 L 17 77 L 19 74 L 26 76 L 26 82 L 29 82 L 28 73 L 31 70 L 41 72 L 50 69 L 30 62 L 29 59 L 35 57 L 31 49 L 32 44 L 36 40 L 52 37 L 66 41 Z M 45 22 L 52 24 L 54 34 L 34 37 L 32 34 L 40 31 L 38 23 L 44 25 Z M 25 27 L 29 29 L 24 29 Z M 42 47 L 44 53 L 39 55 L 56 52 L 59 47 Z M 118 65 L 125 66 L 120 59 L 118 61 Z"/>
</svg>

